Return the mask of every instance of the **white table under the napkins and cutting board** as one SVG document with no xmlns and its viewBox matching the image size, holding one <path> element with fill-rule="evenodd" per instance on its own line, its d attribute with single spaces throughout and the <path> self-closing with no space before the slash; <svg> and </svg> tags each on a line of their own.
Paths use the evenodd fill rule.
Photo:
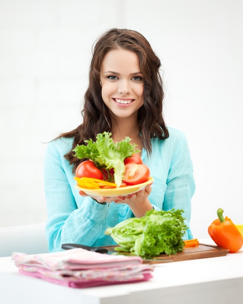
<svg viewBox="0 0 243 304">
<path fill-rule="evenodd" d="M 242 289 L 243 248 L 221 257 L 156 264 L 147 282 L 84 289 L 22 275 L 11 257 L 0 258 L 2 304 L 231 304 L 243 303 Z"/>
</svg>

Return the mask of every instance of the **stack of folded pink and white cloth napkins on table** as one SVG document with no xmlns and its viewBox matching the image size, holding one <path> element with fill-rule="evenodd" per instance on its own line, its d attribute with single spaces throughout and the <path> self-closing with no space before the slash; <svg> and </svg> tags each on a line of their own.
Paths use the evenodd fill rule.
<svg viewBox="0 0 243 304">
<path fill-rule="evenodd" d="M 139 256 L 110 255 L 77 248 L 58 253 L 13 253 L 19 272 L 68 287 L 133 283 L 152 278 Z"/>
</svg>

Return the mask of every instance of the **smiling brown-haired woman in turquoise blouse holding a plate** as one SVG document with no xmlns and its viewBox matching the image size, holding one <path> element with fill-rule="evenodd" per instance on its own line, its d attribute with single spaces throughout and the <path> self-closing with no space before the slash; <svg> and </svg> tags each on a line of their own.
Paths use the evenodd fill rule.
<svg viewBox="0 0 243 304">
<path fill-rule="evenodd" d="M 111 29 L 94 47 L 89 86 L 82 110 L 83 122 L 75 130 L 49 143 L 45 157 L 49 251 L 64 243 L 89 246 L 114 244 L 104 234 L 108 227 L 147 210 L 183 209 L 189 228 L 194 194 L 193 166 L 185 136 L 167 128 L 162 116 L 163 89 L 159 58 L 146 38 L 136 31 Z M 126 136 L 141 152 L 154 178 L 133 195 L 92 198 L 75 188 L 75 169 L 81 160 L 73 148 L 98 133 L 112 132 L 114 142 Z"/>
</svg>

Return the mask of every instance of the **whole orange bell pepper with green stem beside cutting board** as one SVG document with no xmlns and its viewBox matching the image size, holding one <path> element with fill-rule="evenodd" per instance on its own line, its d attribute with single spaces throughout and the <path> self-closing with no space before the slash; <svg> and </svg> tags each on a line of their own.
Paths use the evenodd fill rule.
<svg viewBox="0 0 243 304">
<path fill-rule="evenodd" d="M 217 210 L 218 219 L 214 220 L 208 228 L 212 240 L 219 246 L 235 253 L 242 248 L 243 237 L 235 224 L 229 218 L 224 218 L 224 210 Z"/>
</svg>

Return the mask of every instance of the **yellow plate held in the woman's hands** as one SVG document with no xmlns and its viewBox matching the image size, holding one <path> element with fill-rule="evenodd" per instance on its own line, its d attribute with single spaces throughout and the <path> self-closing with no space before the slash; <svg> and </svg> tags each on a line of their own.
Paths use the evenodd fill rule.
<svg viewBox="0 0 243 304">
<path fill-rule="evenodd" d="M 79 186 L 78 184 L 76 185 L 76 188 L 83 191 L 87 195 L 90 196 L 101 196 L 101 197 L 112 197 L 112 196 L 124 196 L 124 195 L 129 195 L 135 192 L 138 192 L 142 189 L 144 189 L 146 186 L 150 185 L 153 183 L 153 177 L 150 176 L 148 181 L 142 184 L 138 185 L 133 185 L 133 186 L 125 186 L 125 187 L 119 187 L 119 188 L 110 188 L 110 189 L 88 189 L 88 188 L 83 188 Z"/>
</svg>

